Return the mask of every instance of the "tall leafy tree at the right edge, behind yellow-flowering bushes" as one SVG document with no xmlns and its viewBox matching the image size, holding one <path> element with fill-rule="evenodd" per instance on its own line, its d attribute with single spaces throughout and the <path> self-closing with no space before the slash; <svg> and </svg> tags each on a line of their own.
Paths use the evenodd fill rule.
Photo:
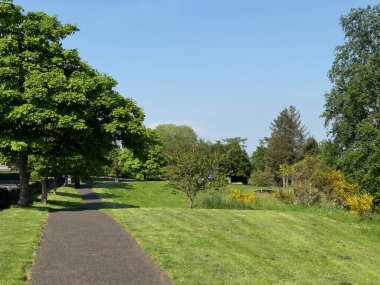
<svg viewBox="0 0 380 285">
<path fill-rule="evenodd" d="M 352 9 L 341 25 L 345 42 L 336 48 L 323 116 L 338 150 L 338 166 L 379 195 L 380 6 Z"/>
</svg>

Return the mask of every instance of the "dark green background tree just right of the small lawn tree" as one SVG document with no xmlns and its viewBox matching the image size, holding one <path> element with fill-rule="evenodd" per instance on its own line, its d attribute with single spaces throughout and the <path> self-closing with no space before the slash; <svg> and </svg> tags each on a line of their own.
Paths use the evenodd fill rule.
<svg viewBox="0 0 380 285">
<path fill-rule="evenodd" d="M 218 141 L 214 146 L 222 157 L 220 168 L 231 182 L 241 181 L 244 184 L 248 183 L 251 162 L 245 150 L 246 141 L 246 139 L 239 137 L 226 138 L 223 142 Z"/>
</svg>

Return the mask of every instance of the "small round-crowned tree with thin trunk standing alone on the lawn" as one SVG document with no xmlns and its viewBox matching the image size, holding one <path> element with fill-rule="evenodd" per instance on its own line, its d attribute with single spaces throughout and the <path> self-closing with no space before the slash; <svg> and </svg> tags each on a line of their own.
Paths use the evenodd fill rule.
<svg viewBox="0 0 380 285">
<path fill-rule="evenodd" d="M 186 193 L 190 208 L 199 192 L 225 183 L 219 159 L 218 153 L 203 141 L 173 145 L 168 153 L 166 177 L 176 189 Z"/>
</svg>

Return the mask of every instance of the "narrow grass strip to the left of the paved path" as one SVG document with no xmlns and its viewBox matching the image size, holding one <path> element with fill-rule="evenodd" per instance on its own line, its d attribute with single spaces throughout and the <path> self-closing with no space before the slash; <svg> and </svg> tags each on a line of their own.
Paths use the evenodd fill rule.
<svg viewBox="0 0 380 285">
<path fill-rule="evenodd" d="M 0 210 L 0 284 L 23 284 L 29 276 L 34 253 L 50 209 L 78 207 L 82 199 L 74 188 L 62 187 L 49 194 L 49 203 L 13 206 Z"/>
</svg>

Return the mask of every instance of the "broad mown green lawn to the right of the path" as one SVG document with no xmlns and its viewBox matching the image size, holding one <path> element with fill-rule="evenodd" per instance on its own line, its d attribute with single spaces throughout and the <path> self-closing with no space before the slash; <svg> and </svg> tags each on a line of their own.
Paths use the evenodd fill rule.
<svg viewBox="0 0 380 285">
<path fill-rule="evenodd" d="M 340 210 L 283 206 L 190 210 L 186 196 L 170 194 L 164 182 L 140 184 L 98 184 L 95 190 L 106 189 L 110 202 L 139 207 L 104 211 L 176 284 L 380 284 L 378 217 L 363 222 Z"/>
</svg>

